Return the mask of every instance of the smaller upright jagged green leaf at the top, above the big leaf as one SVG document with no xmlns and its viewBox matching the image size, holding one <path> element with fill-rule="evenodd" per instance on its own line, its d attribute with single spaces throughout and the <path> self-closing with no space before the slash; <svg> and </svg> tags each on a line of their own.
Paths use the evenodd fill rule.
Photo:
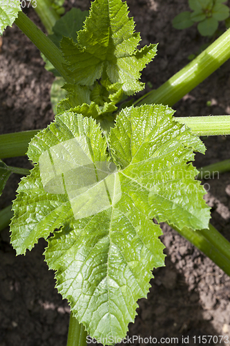
<svg viewBox="0 0 230 346">
<path fill-rule="evenodd" d="M 140 91 L 140 71 L 151 62 L 156 44 L 137 50 L 140 34 L 134 33 L 133 18 L 122 0 L 95 0 L 77 43 L 64 37 L 61 49 L 66 72 L 77 84 L 93 85 L 99 78 L 123 84 L 127 95 Z"/>
</svg>

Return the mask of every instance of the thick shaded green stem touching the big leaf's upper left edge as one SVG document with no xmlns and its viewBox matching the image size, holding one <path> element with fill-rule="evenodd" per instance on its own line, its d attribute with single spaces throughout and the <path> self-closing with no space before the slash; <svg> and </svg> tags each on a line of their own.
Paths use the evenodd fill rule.
<svg viewBox="0 0 230 346">
<path fill-rule="evenodd" d="M 28 150 L 28 144 L 39 130 L 2 134 L 0 136 L 0 158 L 24 156 Z"/>
</svg>

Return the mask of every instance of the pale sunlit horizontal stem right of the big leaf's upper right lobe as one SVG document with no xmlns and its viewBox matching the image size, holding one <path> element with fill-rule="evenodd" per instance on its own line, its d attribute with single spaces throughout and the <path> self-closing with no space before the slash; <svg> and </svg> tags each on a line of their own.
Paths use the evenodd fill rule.
<svg viewBox="0 0 230 346">
<path fill-rule="evenodd" d="M 183 116 L 174 119 L 190 127 L 193 134 L 198 136 L 230 134 L 230 116 Z"/>
</svg>

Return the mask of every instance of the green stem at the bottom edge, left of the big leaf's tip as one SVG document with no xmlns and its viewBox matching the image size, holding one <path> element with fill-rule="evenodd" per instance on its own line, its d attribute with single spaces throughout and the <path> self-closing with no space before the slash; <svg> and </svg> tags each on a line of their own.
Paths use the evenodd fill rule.
<svg viewBox="0 0 230 346">
<path fill-rule="evenodd" d="M 84 325 L 79 323 L 77 318 L 70 313 L 70 324 L 68 326 L 68 341 L 67 346 L 86 346 L 87 332 Z"/>
</svg>

